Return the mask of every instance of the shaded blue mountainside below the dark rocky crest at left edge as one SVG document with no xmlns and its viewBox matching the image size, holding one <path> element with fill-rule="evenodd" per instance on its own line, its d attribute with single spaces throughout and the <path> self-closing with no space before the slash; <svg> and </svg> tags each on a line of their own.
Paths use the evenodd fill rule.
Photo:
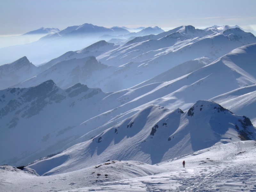
<svg viewBox="0 0 256 192">
<path fill-rule="evenodd" d="M 100 102 L 108 95 L 100 89 L 76 84 L 62 90 L 52 80 L 0 95 L 0 164 L 16 166 L 66 149 L 90 131 L 77 125 L 109 108 Z"/>
</svg>

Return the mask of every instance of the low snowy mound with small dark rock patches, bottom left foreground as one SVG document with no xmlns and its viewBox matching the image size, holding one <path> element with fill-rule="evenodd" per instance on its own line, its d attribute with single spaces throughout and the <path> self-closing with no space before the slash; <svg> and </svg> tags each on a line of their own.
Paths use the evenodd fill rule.
<svg viewBox="0 0 256 192">
<path fill-rule="evenodd" d="M 94 186 L 102 182 L 139 178 L 165 171 L 163 168 L 143 164 L 141 162 L 115 160 L 105 162 L 101 165 L 83 168 L 74 172 L 45 177 L 32 176 L 25 172 L 18 172 L 16 170 L 17 169 L 11 166 L 0 166 L 0 179 L 2 181 L 0 185 L 1 191 L 17 191 L 18 183 L 22 183 L 22 188 L 18 189 L 20 192 L 32 192 L 38 190 L 50 191 L 54 189 L 62 191 Z M 20 179 L 13 182 L 12 179 L 14 178 Z M 42 188 L 41 184 L 38 182 L 43 184 L 44 187 Z"/>
</svg>

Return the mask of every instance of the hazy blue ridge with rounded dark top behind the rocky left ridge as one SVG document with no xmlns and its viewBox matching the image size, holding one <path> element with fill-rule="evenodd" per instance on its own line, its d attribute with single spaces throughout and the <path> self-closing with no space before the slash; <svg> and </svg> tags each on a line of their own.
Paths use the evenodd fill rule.
<svg viewBox="0 0 256 192">
<path fill-rule="evenodd" d="M 84 56 L 86 56 L 86 54 Z M 49 66 L 51 65 L 52 63 L 49 63 Z M 42 67 L 44 68 L 44 66 Z M 99 63 L 94 56 L 63 60 L 60 62 L 57 61 L 55 65 L 47 68 L 44 72 L 15 85 L 15 87 L 31 87 L 47 80 L 53 80 L 56 85 L 62 89 L 66 89 L 77 83 L 91 86 L 99 82 L 97 76 L 102 74 L 101 77 L 104 78 L 104 76 L 107 76 L 105 74 L 112 73 L 114 70 L 115 67 L 109 67 Z"/>
</svg>

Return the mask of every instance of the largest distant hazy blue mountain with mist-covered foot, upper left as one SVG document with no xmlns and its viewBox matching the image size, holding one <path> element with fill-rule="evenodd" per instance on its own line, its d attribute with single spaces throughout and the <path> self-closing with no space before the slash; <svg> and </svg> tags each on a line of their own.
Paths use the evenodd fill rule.
<svg viewBox="0 0 256 192">
<path fill-rule="evenodd" d="M 124 34 L 123 29 L 99 27 L 88 23 L 70 26 L 57 33 L 46 35 L 33 43 L 0 48 L 0 65 L 13 62 L 24 55 L 35 65 L 40 65 L 65 52 L 80 50 L 96 43 L 103 35 L 117 36 L 122 34 Z M 13 54 L 14 52 L 15 54 Z"/>
</svg>

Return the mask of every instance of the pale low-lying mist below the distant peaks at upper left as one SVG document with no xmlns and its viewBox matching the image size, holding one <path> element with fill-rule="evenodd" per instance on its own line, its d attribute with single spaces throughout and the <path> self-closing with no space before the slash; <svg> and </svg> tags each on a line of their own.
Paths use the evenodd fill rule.
<svg viewBox="0 0 256 192">
<path fill-rule="evenodd" d="M 100 40 L 98 36 L 55 39 L 41 37 L 39 35 L 0 37 L 0 65 L 26 56 L 30 62 L 38 66 L 68 51 L 78 51 Z"/>
</svg>

